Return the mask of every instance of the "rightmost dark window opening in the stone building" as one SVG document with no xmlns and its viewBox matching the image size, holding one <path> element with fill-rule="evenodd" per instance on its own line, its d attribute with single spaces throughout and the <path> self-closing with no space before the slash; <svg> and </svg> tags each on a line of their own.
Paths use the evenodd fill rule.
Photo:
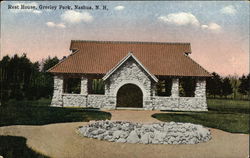
<svg viewBox="0 0 250 158">
<path fill-rule="evenodd" d="M 179 79 L 179 95 L 180 97 L 194 97 L 196 81 L 195 78 Z"/>
</svg>

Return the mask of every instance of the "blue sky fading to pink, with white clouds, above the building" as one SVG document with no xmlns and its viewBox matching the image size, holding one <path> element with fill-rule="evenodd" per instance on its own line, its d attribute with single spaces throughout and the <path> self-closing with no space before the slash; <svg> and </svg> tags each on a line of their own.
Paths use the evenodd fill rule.
<svg viewBox="0 0 250 158">
<path fill-rule="evenodd" d="M 6 1 L 1 3 L 1 58 L 22 53 L 32 61 L 62 58 L 70 54 L 71 40 L 188 42 L 190 57 L 209 72 L 241 76 L 249 73 L 249 4 Z"/>
</svg>

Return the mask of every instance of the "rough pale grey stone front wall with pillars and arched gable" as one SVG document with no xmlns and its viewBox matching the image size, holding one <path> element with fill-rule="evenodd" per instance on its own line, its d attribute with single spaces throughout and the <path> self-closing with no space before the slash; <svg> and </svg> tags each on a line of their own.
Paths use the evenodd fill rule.
<svg viewBox="0 0 250 158">
<path fill-rule="evenodd" d="M 156 83 L 153 83 L 148 74 L 133 58 L 124 62 L 105 81 L 105 94 L 88 94 L 87 82 L 86 77 L 81 77 L 80 94 L 69 94 L 63 92 L 63 76 L 55 76 L 51 105 L 116 109 L 116 94 L 119 88 L 125 84 L 134 84 L 143 92 L 143 109 L 145 110 L 207 111 L 206 81 L 204 79 L 197 80 L 194 97 L 179 96 L 178 78 L 173 78 L 171 96 L 157 96 L 153 88 Z"/>
</svg>

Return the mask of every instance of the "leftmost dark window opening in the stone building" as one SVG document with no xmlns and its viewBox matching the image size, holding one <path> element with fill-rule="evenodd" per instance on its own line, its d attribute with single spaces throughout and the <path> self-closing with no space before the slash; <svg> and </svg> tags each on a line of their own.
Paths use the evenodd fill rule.
<svg viewBox="0 0 250 158">
<path fill-rule="evenodd" d="M 63 92 L 80 94 L 81 92 L 81 79 L 80 78 L 66 78 L 63 81 Z"/>
</svg>

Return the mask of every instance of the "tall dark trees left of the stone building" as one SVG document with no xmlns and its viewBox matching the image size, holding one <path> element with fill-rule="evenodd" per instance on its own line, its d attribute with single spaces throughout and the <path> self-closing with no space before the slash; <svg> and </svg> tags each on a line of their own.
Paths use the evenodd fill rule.
<svg viewBox="0 0 250 158">
<path fill-rule="evenodd" d="M 57 57 L 31 62 L 26 54 L 4 56 L 0 61 L 1 103 L 9 99 L 51 98 L 53 76 L 46 71 L 58 62 Z"/>
</svg>

